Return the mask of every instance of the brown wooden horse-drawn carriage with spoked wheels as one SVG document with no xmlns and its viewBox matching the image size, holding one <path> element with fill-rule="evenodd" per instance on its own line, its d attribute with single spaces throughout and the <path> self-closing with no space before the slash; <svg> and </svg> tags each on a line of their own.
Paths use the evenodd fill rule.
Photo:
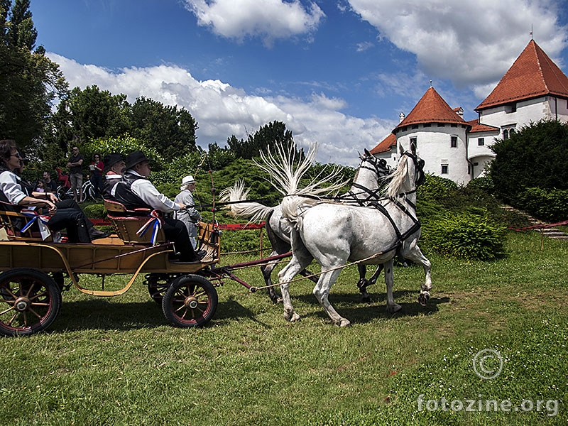
<svg viewBox="0 0 568 426">
<path fill-rule="evenodd" d="M 55 242 L 53 236 L 42 236 L 37 225 L 16 226 L 18 221 L 38 222 L 39 215 L 0 212 L 1 335 L 47 329 L 60 311 L 62 291 L 71 285 L 87 295 L 111 297 L 126 293 L 141 274 L 171 324 L 196 327 L 211 320 L 217 309 L 212 281 L 219 285 L 222 278 L 215 268 L 220 255 L 218 226 L 200 223 L 200 249 L 206 251 L 200 262 L 173 263 L 173 246 L 165 241 L 156 214 L 147 209 L 129 212 L 115 202 L 105 202 L 105 207 L 114 234 L 91 244 Z M 100 278 L 100 285 L 83 286 L 82 274 Z M 105 278 L 119 274 L 130 275 L 124 287 L 105 290 Z"/>
</svg>

